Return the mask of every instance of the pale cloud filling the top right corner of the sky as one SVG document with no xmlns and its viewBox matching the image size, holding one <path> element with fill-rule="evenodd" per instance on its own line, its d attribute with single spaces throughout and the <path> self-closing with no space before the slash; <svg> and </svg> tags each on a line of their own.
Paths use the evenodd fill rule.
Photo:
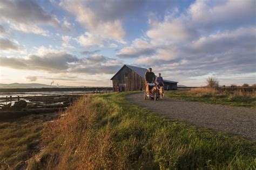
<svg viewBox="0 0 256 170">
<path fill-rule="evenodd" d="M 188 15 L 192 22 L 209 26 L 240 26 L 255 22 L 255 1 L 227 0 L 227 1 L 201 1 L 191 4 Z M 255 25 L 255 23 L 254 23 Z"/>
</svg>

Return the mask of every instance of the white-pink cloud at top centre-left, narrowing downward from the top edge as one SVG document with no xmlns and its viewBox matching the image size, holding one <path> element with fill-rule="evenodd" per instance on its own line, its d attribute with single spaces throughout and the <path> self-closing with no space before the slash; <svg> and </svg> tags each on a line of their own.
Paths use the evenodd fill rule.
<svg viewBox="0 0 256 170">
<path fill-rule="evenodd" d="M 114 0 L 100 2 L 64 0 L 59 5 L 72 13 L 86 32 L 89 32 L 93 37 L 97 37 L 97 39 L 100 38 L 98 41 L 102 44 L 103 40 L 124 42 L 123 38 L 126 32 L 122 26 L 123 19 L 143 4 L 144 1 L 134 0 L 125 2 Z M 94 45 L 95 43 L 89 44 Z"/>
</svg>

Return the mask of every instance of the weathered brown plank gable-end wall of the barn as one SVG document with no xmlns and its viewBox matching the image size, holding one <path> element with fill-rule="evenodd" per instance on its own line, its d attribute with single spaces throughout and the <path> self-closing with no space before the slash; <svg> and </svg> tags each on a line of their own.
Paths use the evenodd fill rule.
<svg viewBox="0 0 256 170">
<path fill-rule="evenodd" d="M 145 90 L 145 79 L 126 66 L 112 78 L 112 82 L 115 89 L 118 84 L 123 84 L 122 91 Z"/>
</svg>

